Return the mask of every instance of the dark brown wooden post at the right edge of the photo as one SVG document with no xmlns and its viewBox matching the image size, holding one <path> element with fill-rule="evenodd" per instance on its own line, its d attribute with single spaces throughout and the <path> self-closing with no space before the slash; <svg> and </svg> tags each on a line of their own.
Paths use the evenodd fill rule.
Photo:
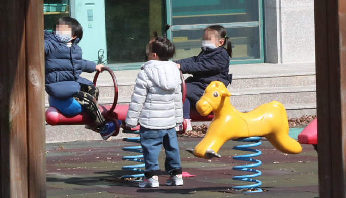
<svg viewBox="0 0 346 198">
<path fill-rule="evenodd" d="M 320 197 L 346 197 L 346 2 L 314 7 Z"/>
</svg>

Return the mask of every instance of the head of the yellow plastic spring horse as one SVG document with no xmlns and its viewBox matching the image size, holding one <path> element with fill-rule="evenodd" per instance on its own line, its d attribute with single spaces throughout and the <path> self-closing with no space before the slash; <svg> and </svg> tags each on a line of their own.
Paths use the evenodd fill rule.
<svg viewBox="0 0 346 198">
<path fill-rule="evenodd" d="M 207 116 L 210 112 L 218 110 L 220 103 L 229 96 L 231 93 L 222 82 L 213 81 L 207 86 L 203 96 L 196 103 L 196 109 L 202 116 Z"/>
</svg>

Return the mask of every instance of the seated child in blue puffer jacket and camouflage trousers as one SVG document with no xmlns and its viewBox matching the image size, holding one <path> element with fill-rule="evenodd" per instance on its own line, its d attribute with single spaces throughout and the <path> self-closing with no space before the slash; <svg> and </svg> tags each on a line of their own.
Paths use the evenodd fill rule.
<svg viewBox="0 0 346 198">
<path fill-rule="evenodd" d="M 102 72 L 104 66 L 82 59 L 81 47 L 77 45 L 82 36 L 81 24 L 71 17 L 58 19 L 54 34 L 44 32 L 45 89 L 49 96 L 60 100 L 73 97 L 94 120 L 94 125 L 86 128 L 98 128 L 102 138 L 107 139 L 115 133 L 116 126 L 106 122 L 98 108 L 98 89 L 79 77 L 82 71 Z"/>
</svg>

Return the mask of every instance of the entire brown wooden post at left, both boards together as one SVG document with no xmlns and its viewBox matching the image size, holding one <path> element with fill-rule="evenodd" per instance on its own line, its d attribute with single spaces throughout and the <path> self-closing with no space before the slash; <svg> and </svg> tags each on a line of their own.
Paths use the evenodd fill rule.
<svg viewBox="0 0 346 198">
<path fill-rule="evenodd" d="M 45 197 L 43 1 L 0 5 L 0 197 Z"/>
</svg>

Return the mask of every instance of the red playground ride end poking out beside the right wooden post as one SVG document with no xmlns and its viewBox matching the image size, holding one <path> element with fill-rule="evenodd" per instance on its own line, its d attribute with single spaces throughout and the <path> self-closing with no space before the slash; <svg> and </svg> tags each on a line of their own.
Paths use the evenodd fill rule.
<svg viewBox="0 0 346 198">
<path fill-rule="evenodd" d="M 317 118 L 312 120 L 298 135 L 301 144 L 312 144 L 317 151 Z"/>
</svg>

